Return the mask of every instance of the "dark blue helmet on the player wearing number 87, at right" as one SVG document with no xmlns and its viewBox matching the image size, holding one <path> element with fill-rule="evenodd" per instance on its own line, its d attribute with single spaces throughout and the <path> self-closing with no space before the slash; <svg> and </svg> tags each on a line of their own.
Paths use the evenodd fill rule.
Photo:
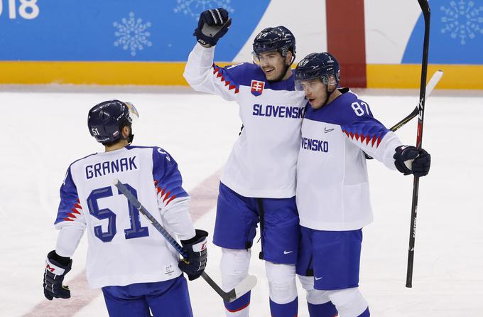
<svg viewBox="0 0 483 317">
<path fill-rule="evenodd" d="M 301 82 L 315 78 L 320 78 L 325 85 L 339 85 L 340 66 L 332 54 L 311 53 L 300 60 L 295 68 L 295 89 L 303 90 Z"/>
</svg>

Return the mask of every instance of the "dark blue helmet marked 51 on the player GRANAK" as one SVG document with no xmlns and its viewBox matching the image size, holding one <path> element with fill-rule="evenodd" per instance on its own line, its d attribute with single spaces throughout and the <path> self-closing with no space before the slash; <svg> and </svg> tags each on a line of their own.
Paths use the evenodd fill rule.
<svg viewBox="0 0 483 317">
<path fill-rule="evenodd" d="M 130 127 L 133 120 L 139 117 L 136 108 L 130 102 L 108 100 L 96 104 L 89 110 L 87 127 L 96 141 L 104 144 L 121 139 L 121 129 Z M 129 143 L 133 138 L 132 130 L 128 137 Z"/>
</svg>

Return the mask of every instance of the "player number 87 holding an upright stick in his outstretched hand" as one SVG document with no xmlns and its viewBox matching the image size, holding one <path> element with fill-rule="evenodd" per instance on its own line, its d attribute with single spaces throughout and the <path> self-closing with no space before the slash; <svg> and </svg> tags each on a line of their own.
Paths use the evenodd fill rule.
<svg viewBox="0 0 483 317">
<path fill-rule="evenodd" d="M 310 103 L 297 163 L 297 274 L 308 298 L 330 299 L 341 317 L 367 317 L 358 288 L 362 227 L 372 221 L 364 152 L 417 177 L 428 174 L 430 155 L 403 146 L 374 119 L 369 104 L 339 81 L 339 63 L 330 53 L 312 53 L 295 69 L 295 87 Z M 313 307 L 310 316 L 320 313 Z"/>
</svg>

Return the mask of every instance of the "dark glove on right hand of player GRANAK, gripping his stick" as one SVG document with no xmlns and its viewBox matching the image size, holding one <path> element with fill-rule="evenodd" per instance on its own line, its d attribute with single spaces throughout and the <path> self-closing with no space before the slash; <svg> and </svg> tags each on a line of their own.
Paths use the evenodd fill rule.
<svg viewBox="0 0 483 317">
<path fill-rule="evenodd" d="M 192 237 L 190 240 L 181 240 L 181 245 L 183 245 L 183 250 L 188 254 L 188 258 L 181 260 L 178 263 L 178 267 L 181 271 L 188 274 L 190 281 L 197 279 L 205 271 L 208 257 L 206 249 L 207 236 L 208 232 L 197 229 L 195 237 Z"/>
</svg>

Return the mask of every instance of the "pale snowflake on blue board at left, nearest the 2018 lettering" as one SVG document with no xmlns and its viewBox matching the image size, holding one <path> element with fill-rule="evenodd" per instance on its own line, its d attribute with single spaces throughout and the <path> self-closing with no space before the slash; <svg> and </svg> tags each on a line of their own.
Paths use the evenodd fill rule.
<svg viewBox="0 0 483 317">
<path fill-rule="evenodd" d="M 121 22 L 114 22 L 112 25 L 116 28 L 114 46 L 121 46 L 123 50 L 130 50 L 131 56 L 136 56 L 137 50 L 143 50 L 146 46 L 153 45 L 148 40 L 151 33 L 146 31 L 151 26 L 151 22 L 143 23 L 141 18 L 134 18 L 133 12 L 129 12 L 129 19 L 122 18 Z"/>
</svg>

